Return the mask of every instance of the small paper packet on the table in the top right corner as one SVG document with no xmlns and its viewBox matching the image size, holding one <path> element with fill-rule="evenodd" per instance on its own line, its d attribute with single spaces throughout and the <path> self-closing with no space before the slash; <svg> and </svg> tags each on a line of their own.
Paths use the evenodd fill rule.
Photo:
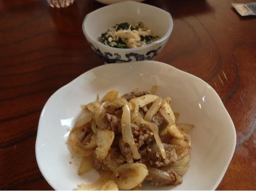
<svg viewBox="0 0 256 191">
<path fill-rule="evenodd" d="M 256 2 L 232 3 L 232 6 L 241 16 L 256 15 Z"/>
</svg>

